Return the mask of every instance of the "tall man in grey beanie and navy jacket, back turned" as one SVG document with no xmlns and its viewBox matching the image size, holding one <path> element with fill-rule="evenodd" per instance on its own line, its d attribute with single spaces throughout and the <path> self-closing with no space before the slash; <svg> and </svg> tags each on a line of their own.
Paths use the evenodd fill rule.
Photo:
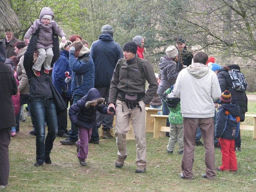
<svg viewBox="0 0 256 192">
<path fill-rule="evenodd" d="M 113 28 L 110 25 L 104 25 L 101 30 L 99 40 L 94 41 L 90 53 L 95 67 L 95 88 L 100 92 L 102 98 L 105 98 L 106 107 L 108 107 L 110 82 L 119 59 L 123 58 L 121 46 L 113 39 Z M 99 143 L 98 128 L 103 126 L 103 139 L 112 138 L 110 129 L 113 128 L 114 114 L 102 115 L 97 112 L 96 127 L 92 129 L 92 138 L 90 143 Z"/>
</svg>

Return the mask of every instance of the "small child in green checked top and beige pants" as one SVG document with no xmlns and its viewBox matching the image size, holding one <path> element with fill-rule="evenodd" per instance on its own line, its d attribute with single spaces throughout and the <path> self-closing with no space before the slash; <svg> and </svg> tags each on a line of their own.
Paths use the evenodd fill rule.
<svg viewBox="0 0 256 192">
<path fill-rule="evenodd" d="M 180 99 L 177 98 L 173 93 L 174 86 L 175 84 L 164 92 L 167 94 L 165 96 L 165 102 L 170 110 L 170 138 L 166 150 L 167 154 L 172 154 L 174 146 L 178 140 L 179 154 L 183 154 L 183 118 L 180 111 Z"/>
</svg>

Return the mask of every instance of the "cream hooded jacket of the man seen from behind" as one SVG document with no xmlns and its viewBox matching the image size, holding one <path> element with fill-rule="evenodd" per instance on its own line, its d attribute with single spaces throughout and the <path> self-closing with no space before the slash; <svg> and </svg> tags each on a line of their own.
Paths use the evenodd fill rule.
<svg viewBox="0 0 256 192">
<path fill-rule="evenodd" d="M 221 90 L 217 75 L 204 64 L 193 63 L 180 71 L 173 93 L 180 98 L 183 117 L 214 116 L 214 103 Z"/>
</svg>

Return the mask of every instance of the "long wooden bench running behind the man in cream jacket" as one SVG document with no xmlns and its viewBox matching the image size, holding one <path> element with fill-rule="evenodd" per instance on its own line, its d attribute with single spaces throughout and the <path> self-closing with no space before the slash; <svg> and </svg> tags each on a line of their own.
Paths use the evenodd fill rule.
<svg viewBox="0 0 256 192">
<path fill-rule="evenodd" d="M 253 139 L 256 139 L 256 115 L 245 114 L 246 117 L 253 117 L 253 126 L 240 124 L 240 130 L 253 131 Z M 165 132 L 169 132 L 170 128 L 166 127 L 166 117 L 168 115 L 151 115 L 154 117 L 154 138 L 165 137 Z"/>
</svg>

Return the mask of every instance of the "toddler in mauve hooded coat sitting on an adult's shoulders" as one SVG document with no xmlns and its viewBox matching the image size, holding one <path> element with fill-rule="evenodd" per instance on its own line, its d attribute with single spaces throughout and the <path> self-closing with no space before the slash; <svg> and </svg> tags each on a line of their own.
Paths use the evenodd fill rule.
<svg viewBox="0 0 256 192">
<path fill-rule="evenodd" d="M 38 59 L 33 65 L 32 69 L 36 76 L 41 76 L 40 71 L 41 67 L 44 64 L 44 73 L 49 74 L 51 68 L 51 62 L 53 57 L 52 52 L 52 29 L 55 33 L 62 38 L 62 43 L 66 42 L 66 35 L 59 25 L 52 20 L 54 18 L 51 8 L 44 7 L 39 15 L 39 19 L 35 20 L 33 25 L 28 29 L 24 41 L 29 44 L 29 38 L 32 36 L 38 29 L 38 39 L 36 42 L 36 50 L 38 51 Z"/>
</svg>

